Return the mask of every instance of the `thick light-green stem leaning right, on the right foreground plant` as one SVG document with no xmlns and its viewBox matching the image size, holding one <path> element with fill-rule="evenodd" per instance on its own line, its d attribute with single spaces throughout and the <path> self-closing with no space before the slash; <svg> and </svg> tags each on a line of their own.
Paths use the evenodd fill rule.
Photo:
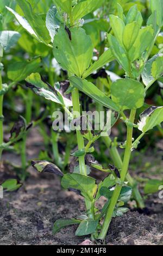
<svg viewBox="0 0 163 256">
<path fill-rule="evenodd" d="M 130 118 L 129 118 L 129 121 L 131 123 L 134 123 L 135 114 L 136 114 L 136 109 L 132 109 L 130 113 Z M 123 159 L 122 171 L 121 171 L 122 182 L 124 182 L 124 180 L 126 179 L 126 175 L 128 172 L 128 166 L 129 166 L 130 155 L 131 155 L 131 147 L 132 147 L 132 137 L 133 137 L 133 127 L 128 126 L 126 149 L 124 152 L 124 159 Z M 108 231 L 108 228 L 111 222 L 112 214 L 114 212 L 118 197 L 120 196 L 121 188 L 122 188 L 122 185 L 116 185 L 115 187 L 114 193 L 112 194 L 112 197 L 110 200 L 109 208 L 106 211 L 105 220 L 102 225 L 102 229 L 98 236 L 98 239 L 102 239 L 102 240 L 105 239 L 106 233 Z"/>
</svg>

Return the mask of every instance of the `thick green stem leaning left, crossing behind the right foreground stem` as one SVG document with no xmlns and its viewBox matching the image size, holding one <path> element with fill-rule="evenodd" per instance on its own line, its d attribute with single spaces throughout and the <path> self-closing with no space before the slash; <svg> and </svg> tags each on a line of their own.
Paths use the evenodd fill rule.
<svg viewBox="0 0 163 256">
<path fill-rule="evenodd" d="M 116 146 L 111 145 L 112 144 L 111 138 L 109 136 L 103 137 L 103 141 L 109 149 L 110 157 L 111 157 L 112 161 L 114 162 L 114 165 L 118 169 L 122 169 L 123 162 L 122 162 L 121 156 L 118 153 Z M 139 192 L 139 189 L 137 188 L 137 182 L 131 177 L 131 175 L 129 173 L 127 173 L 126 178 L 129 182 L 129 186 L 132 187 L 133 197 L 136 200 L 137 207 L 139 207 L 141 209 L 145 208 L 145 203 L 144 203 L 143 198 Z"/>
</svg>

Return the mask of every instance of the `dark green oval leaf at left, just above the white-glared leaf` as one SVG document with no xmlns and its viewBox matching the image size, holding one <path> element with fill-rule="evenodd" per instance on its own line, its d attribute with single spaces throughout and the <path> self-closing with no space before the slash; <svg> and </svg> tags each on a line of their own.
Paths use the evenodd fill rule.
<svg viewBox="0 0 163 256">
<path fill-rule="evenodd" d="M 18 82 L 24 80 L 31 72 L 36 71 L 40 66 L 40 58 L 23 62 L 14 62 L 8 66 L 8 78 Z"/>
</svg>

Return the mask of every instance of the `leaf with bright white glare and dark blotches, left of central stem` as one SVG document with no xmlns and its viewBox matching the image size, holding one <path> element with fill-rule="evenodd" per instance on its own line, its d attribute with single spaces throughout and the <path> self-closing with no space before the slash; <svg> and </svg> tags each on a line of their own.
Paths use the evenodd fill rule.
<svg viewBox="0 0 163 256">
<path fill-rule="evenodd" d="M 72 106 L 71 100 L 66 99 L 60 94 L 59 91 L 55 90 L 50 84 L 45 83 L 41 80 L 39 73 L 32 73 L 26 78 L 27 87 L 33 90 L 34 93 L 45 97 L 47 100 L 65 105 L 66 107 Z"/>
</svg>

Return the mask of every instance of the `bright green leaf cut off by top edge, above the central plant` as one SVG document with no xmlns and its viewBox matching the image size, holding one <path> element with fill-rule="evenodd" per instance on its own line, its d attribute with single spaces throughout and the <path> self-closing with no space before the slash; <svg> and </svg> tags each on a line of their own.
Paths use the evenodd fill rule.
<svg viewBox="0 0 163 256">
<path fill-rule="evenodd" d="M 103 2 L 104 0 L 85 0 L 78 2 L 72 11 L 73 22 L 81 19 L 92 11 L 95 11 L 101 7 Z"/>
</svg>

